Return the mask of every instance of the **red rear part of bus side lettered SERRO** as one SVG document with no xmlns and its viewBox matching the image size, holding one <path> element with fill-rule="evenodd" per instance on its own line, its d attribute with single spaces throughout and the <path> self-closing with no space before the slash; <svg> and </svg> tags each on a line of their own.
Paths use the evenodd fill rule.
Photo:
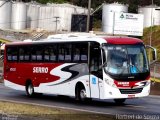
<svg viewBox="0 0 160 120">
<path fill-rule="evenodd" d="M 41 83 L 56 81 L 58 76 L 50 75 L 49 71 L 61 64 L 41 64 L 41 63 L 7 63 L 5 68 L 4 79 L 14 83 L 8 87 L 25 86 L 27 80 L 31 80 L 34 86 Z M 6 85 L 7 86 L 7 85 Z"/>
</svg>

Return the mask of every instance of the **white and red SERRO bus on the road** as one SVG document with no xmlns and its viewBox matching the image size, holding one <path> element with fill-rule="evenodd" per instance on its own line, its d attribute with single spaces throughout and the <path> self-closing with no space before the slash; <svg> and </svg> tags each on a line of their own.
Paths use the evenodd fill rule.
<svg viewBox="0 0 160 120">
<path fill-rule="evenodd" d="M 52 35 L 6 44 L 4 54 L 5 86 L 28 96 L 47 93 L 123 103 L 150 93 L 146 50 L 137 38 Z"/>
</svg>

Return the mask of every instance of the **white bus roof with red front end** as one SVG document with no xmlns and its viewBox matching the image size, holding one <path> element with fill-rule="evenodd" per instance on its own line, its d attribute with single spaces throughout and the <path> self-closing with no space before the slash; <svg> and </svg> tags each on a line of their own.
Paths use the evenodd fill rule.
<svg viewBox="0 0 160 120">
<path fill-rule="evenodd" d="M 12 44 L 34 44 L 34 43 L 51 43 L 51 42 L 80 42 L 80 41 L 95 41 L 100 44 L 110 43 L 110 44 L 136 44 L 142 43 L 142 40 L 126 36 L 104 36 L 95 35 L 90 33 L 82 34 L 56 34 L 50 35 L 46 39 L 38 41 L 23 41 L 14 42 Z"/>
</svg>

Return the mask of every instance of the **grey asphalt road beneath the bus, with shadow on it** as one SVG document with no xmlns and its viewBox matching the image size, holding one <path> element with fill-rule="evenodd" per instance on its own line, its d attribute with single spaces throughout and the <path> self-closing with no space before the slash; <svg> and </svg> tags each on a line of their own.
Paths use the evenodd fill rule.
<svg viewBox="0 0 160 120">
<path fill-rule="evenodd" d="M 6 88 L 3 84 L 0 84 L 0 100 L 100 114 L 157 115 L 160 119 L 159 96 L 129 99 L 124 105 L 116 105 L 113 100 L 93 100 L 88 103 L 77 103 L 73 98 L 57 97 L 53 95 L 42 95 L 34 98 L 28 98 L 25 92 Z"/>
</svg>

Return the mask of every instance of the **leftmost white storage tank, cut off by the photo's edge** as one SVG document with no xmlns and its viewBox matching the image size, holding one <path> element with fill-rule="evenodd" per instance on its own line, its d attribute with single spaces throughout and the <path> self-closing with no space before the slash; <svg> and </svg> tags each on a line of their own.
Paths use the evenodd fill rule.
<svg viewBox="0 0 160 120">
<path fill-rule="evenodd" d="M 0 29 L 9 29 L 11 26 L 11 2 L 0 1 Z"/>
</svg>

